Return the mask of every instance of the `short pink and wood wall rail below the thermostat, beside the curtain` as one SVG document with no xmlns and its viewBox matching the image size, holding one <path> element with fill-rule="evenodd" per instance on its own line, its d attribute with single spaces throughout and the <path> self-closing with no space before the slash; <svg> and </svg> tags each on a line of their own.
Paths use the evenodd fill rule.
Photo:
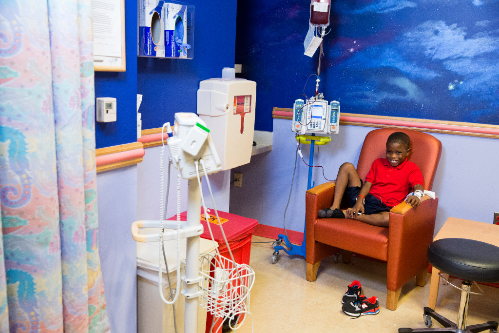
<svg viewBox="0 0 499 333">
<path fill-rule="evenodd" d="M 95 149 L 97 172 L 140 163 L 142 162 L 144 153 L 144 146 L 141 142 Z"/>
</svg>

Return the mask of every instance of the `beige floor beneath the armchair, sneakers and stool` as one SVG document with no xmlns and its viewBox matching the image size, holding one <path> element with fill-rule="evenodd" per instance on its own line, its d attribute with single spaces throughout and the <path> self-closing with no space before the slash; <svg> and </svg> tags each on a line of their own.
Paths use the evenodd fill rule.
<svg viewBox="0 0 499 333">
<path fill-rule="evenodd" d="M 350 264 L 341 260 L 334 263 L 330 257 L 321 262 L 317 280 L 308 282 L 301 256 L 288 256 L 281 251 L 280 260 L 271 264 L 272 241 L 253 236 L 250 257 L 255 272 L 250 294 L 253 331 L 248 318 L 237 333 L 397 332 L 401 327 L 424 327 L 423 307 L 428 305 L 430 274 L 425 287 L 416 286 L 416 279 L 408 282 L 402 288 L 398 309 L 390 311 L 385 308 L 386 264 L 355 257 Z M 378 315 L 351 319 L 341 312 L 341 297 L 353 280 L 361 282 L 364 295 L 378 297 Z M 460 285 L 459 280 L 451 282 Z M 485 296 L 471 296 L 469 325 L 499 322 L 499 288 L 482 286 L 482 289 Z M 459 298 L 459 290 L 441 285 L 437 312 L 456 321 Z"/>
</svg>

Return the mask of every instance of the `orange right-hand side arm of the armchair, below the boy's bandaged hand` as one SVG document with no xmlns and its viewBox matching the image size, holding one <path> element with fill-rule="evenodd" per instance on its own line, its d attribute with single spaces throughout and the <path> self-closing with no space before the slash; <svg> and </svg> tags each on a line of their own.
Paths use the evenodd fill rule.
<svg viewBox="0 0 499 333">
<path fill-rule="evenodd" d="M 390 211 L 387 287 L 397 290 L 428 267 L 426 251 L 433 240 L 438 198 L 423 197 L 418 207 L 405 202 Z"/>
</svg>

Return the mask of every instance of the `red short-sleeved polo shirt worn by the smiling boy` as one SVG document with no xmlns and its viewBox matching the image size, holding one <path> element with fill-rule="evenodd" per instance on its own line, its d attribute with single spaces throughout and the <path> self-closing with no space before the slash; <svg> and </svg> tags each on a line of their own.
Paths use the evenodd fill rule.
<svg viewBox="0 0 499 333">
<path fill-rule="evenodd" d="M 391 166 L 386 158 L 378 158 L 371 164 L 366 182 L 372 183 L 370 194 L 388 207 L 394 207 L 404 200 L 414 185 L 423 185 L 423 174 L 407 158 L 396 167 Z"/>
</svg>

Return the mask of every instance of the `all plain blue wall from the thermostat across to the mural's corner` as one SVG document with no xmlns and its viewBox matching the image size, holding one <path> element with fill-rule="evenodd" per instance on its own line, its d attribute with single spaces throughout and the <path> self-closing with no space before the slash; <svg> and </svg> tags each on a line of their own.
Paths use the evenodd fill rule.
<svg viewBox="0 0 499 333">
<path fill-rule="evenodd" d="M 95 72 L 95 96 L 116 97 L 117 121 L 95 123 L 96 147 L 137 141 L 137 94 L 142 129 L 173 122 L 175 112 L 196 112 L 199 82 L 234 67 L 236 0 L 193 0 L 194 59 L 137 57 L 137 2 L 125 1 L 126 71 Z"/>
</svg>

